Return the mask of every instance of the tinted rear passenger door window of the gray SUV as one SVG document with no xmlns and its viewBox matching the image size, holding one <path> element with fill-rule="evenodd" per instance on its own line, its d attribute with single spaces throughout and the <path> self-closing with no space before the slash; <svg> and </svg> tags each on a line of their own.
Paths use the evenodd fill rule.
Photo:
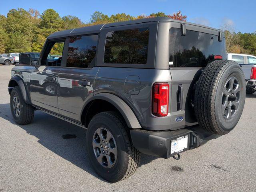
<svg viewBox="0 0 256 192">
<path fill-rule="evenodd" d="M 69 40 L 67 67 L 88 68 L 96 56 L 98 35 L 72 37 Z"/>
</svg>

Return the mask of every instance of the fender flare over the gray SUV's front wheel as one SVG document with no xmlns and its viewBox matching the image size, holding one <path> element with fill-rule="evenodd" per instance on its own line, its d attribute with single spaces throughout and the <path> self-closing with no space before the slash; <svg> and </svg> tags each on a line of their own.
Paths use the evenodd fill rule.
<svg viewBox="0 0 256 192">
<path fill-rule="evenodd" d="M 12 83 L 13 81 L 15 81 L 18 84 L 18 86 L 20 87 L 22 97 L 23 97 L 24 101 L 26 102 L 26 104 L 31 104 L 30 97 L 28 96 L 28 93 L 26 91 L 25 84 L 24 84 L 22 78 L 20 78 L 19 76 L 14 76 L 10 79 L 9 84 L 8 84 L 9 94 L 11 95 L 12 89 L 14 88 L 13 83 Z"/>
</svg>

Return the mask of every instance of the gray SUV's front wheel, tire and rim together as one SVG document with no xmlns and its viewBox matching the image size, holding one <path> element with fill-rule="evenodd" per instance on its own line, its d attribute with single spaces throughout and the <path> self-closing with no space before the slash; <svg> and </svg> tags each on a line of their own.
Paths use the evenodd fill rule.
<svg viewBox="0 0 256 192">
<path fill-rule="evenodd" d="M 32 122 L 34 118 L 34 107 L 26 104 L 18 86 L 12 90 L 10 97 L 10 108 L 16 123 L 25 125 Z"/>
</svg>

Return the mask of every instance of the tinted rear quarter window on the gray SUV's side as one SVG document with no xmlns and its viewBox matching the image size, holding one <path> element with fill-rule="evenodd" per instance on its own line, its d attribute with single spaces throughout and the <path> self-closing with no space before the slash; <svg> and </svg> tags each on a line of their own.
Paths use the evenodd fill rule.
<svg viewBox="0 0 256 192">
<path fill-rule="evenodd" d="M 146 64 L 149 29 L 108 32 L 104 52 L 105 63 Z"/>
</svg>

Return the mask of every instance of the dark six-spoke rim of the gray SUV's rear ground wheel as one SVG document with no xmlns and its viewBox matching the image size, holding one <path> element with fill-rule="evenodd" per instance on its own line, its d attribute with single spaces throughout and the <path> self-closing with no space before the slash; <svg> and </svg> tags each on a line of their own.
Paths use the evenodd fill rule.
<svg viewBox="0 0 256 192">
<path fill-rule="evenodd" d="M 114 136 L 106 128 L 98 128 L 93 135 L 92 147 L 99 164 L 111 168 L 116 163 L 117 146 Z"/>
</svg>

